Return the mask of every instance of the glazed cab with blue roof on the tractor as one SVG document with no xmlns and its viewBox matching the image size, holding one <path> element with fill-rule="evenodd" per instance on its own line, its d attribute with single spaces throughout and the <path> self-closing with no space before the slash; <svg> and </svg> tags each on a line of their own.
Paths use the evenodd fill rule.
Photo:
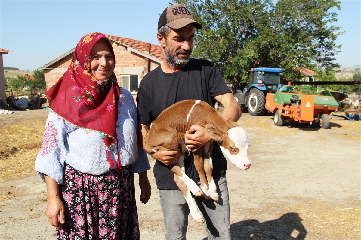
<svg viewBox="0 0 361 240">
<path fill-rule="evenodd" d="M 281 68 L 251 68 L 248 72 L 247 89 L 256 87 L 264 92 L 276 92 L 282 85 L 280 84 Z"/>
</svg>

